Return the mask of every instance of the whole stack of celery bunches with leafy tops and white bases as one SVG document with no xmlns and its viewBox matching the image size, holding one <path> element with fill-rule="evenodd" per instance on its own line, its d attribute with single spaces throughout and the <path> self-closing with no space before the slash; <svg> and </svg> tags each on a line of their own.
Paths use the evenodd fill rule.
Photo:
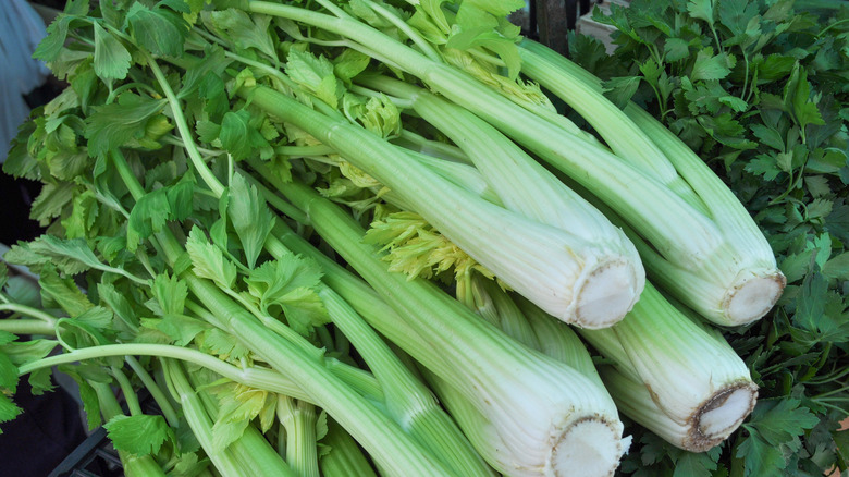
<svg viewBox="0 0 849 477">
<path fill-rule="evenodd" d="M 619 413 L 722 442 L 758 390 L 702 318 L 784 277 L 522 5 L 70 1 L 4 166 L 47 233 L 4 255 L 39 293 L 0 265 L 0 419 L 65 372 L 131 476 L 604 476 Z"/>
</svg>

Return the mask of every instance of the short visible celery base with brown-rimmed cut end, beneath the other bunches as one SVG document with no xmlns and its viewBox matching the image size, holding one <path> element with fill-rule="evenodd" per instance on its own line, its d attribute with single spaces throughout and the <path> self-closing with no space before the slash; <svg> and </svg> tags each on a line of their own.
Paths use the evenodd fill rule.
<svg viewBox="0 0 849 477">
<path fill-rule="evenodd" d="M 605 386 L 619 409 L 681 449 L 717 445 L 754 408 L 758 387 L 746 363 L 718 330 L 686 316 L 651 284 L 615 327 L 579 333 L 615 362 L 616 372 L 603 377 L 611 377 Z M 619 377 L 644 392 L 631 392 Z"/>
</svg>

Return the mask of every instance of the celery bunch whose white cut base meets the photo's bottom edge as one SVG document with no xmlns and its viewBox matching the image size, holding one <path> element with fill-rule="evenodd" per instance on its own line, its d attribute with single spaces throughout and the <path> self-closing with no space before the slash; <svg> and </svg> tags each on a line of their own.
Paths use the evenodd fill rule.
<svg viewBox="0 0 849 477">
<path fill-rule="evenodd" d="M 495 441 L 477 449 L 497 470 L 557 475 L 587 464 L 588 474 L 607 475 L 617 466 L 622 424 L 603 388 L 518 344 L 432 283 L 389 272 L 378 250 L 362 243 L 359 224 L 311 188 L 291 183 L 281 192 L 421 338 L 405 341 L 404 351 L 435 365 L 431 370 L 485 417 Z M 382 331 L 383 323 L 371 323 Z M 582 449 L 598 458 L 586 462 Z"/>
</svg>

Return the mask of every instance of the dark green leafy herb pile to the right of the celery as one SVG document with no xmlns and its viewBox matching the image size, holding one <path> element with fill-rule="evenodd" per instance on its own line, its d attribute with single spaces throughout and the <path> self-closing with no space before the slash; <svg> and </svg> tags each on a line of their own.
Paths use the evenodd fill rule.
<svg viewBox="0 0 849 477">
<path fill-rule="evenodd" d="M 763 320 L 725 330 L 759 404 L 698 466 L 730 475 L 821 475 L 847 466 L 849 416 L 849 5 L 635 0 L 594 19 L 616 50 L 571 39 L 605 95 L 659 118 L 723 176 L 775 250 L 787 289 Z M 694 460 L 651 435 L 623 468 L 659 475 Z M 675 465 L 677 461 L 677 465 Z M 706 475 L 706 473 L 703 473 Z M 698 475 L 693 473 L 692 475 Z"/>
</svg>

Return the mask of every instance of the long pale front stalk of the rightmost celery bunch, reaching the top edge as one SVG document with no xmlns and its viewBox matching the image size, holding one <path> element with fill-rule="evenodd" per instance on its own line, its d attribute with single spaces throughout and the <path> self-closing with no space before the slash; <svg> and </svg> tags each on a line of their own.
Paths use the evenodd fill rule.
<svg viewBox="0 0 849 477">
<path fill-rule="evenodd" d="M 734 267 L 735 260 L 722 258 L 726 237 L 717 224 L 681 199 L 674 191 L 639 167 L 625 161 L 610 150 L 579 135 L 567 132 L 558 123 L 517 106 L 499 91 L 447 64 L 435 62 L 385 34 L 352 19 L 336 19 L 303 8 L 251 1 L 249 9 L 312 25 L 349 38 L 362 45 L 380 45 L 381 58 L 410 73 L 432 90 L 466 108 L 536 154 L 542 160 L 580 183 L 602 201 L 614 208 L 635 227 L 663 257 L 672 262 L 699 269 L 714 262 L 716 254 L 723 262 L 716 267 Z M 756 272 L 756 271 L 755 271 Z M 740 298 L 743 318 L 751 309 L 750 295 L 773 297 L 780 283 L 761 282 L 750 277 L 736 278 L 738 283 L 754 283 L 749 293 L 733 290 Z M 763 285 L 763 286 L 761 286 Z M 766 289 L 766 290 L 761 290 Z M 760 292 L 765 293 L 760 293 Z M 722 303 L 716 303 L 721 307 Z M 736 307 L 734 307 L 736 308 Z M 745 321 L 745 319 L 743 319 Z"/>
</svg>

